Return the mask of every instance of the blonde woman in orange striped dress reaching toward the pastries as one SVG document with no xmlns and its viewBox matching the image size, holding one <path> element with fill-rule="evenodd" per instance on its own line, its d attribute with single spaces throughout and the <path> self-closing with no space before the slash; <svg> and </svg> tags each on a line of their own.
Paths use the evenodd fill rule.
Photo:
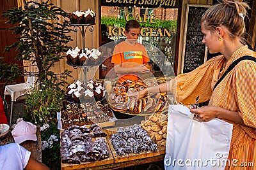
<svg viewBox="0 0 256 170">
<path fill-rule="evenodd" d="M 256 166 L 256 53 L 248 49 L 244 40 L 248 8 L 246 3 L 227 0 L 211 6 L 202 17 L 202 43 L 210 53 L 221 55 L 190 73 L 180 74 L 175 80 L 131 95 L 141 98 L 148 92 L 175 93 L 175 89 L 181 103 L 195 104 L 197 96 L 200 96 L 199 103 L 209 101 L 208 106 L 191 112 L 204 122 L 220 118 L 234 125 L 228 160 L 236 164 L 227 164 L 225 169 Z M 228 67 L 245 55 L 251 58 L 238 62 L 221 79 Z"/>
</svg>

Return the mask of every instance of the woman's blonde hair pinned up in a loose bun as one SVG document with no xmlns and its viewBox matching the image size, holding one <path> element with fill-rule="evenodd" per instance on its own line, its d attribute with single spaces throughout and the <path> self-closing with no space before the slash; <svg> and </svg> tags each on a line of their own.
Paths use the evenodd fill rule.
<svg viewBox="0 0 256 170">
<path fill-rule="evenodd" d="M 239 38 L 241 43 L 245 44 L 244 18 L 249 8 L 248 4 L 240 1 L 221 0 L 205 11 L 201 22 L 205 29 L 212 32 L 216 31 L 216 27 L 223 25 L 230 32 L 231 39 Z"/>
</svg>

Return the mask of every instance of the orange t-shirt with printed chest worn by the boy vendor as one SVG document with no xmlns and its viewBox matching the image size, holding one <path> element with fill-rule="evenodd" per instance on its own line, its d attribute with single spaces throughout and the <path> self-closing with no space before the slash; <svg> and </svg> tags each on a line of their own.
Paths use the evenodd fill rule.
<svg viewBox="0 0 256 170">
<path fill-rule="evenodd" d="M 146 49 L 140 43 L 129 45 L 122 41 L 115 46 L 111 62 L 113 64 L 121 64 L 121 67 L 131 68 L 138 64 L 145 64 L 149 61 Z M 125 80 L 139 80 L 138 73 L 120 74 L 119 82 Z"/>
</svg>

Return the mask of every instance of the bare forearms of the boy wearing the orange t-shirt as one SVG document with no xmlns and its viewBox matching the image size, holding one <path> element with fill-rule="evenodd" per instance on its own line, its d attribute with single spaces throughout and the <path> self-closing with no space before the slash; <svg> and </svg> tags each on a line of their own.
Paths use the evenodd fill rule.
<svg viewBox="0 0 256 170">
<path fill-rule="evenodd" d="M 148 73 L 150 69 L 147 68 L 146 64 L 139 64 L 136 67 L 122 67 L 122 64 L 114 64 L 116 74 L 129 74 L 129 73 Z"/>
</svg>

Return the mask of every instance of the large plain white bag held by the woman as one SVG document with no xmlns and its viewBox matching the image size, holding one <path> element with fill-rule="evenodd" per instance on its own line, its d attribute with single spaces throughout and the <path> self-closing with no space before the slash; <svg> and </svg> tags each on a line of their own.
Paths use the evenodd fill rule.
<svg viewBox="0 0 256 170">
<path fill-rule="evenodd" d="M 193 116 L 186 106 L 169 106 L 165 169 L 224 169 L 233 125 L 218 118 L 198 122 Z"/>
</svg>

